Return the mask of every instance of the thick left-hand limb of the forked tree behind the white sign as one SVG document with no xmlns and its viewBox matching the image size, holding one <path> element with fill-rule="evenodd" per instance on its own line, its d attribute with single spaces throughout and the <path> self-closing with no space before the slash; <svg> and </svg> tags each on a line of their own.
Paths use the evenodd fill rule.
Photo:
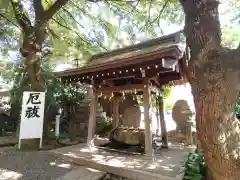
<svg viewBox="0 0 240 180">
<path fill-rule="evenodd" d="M 18 24 L 25 32 L 28 32 L 29 29 L 32 28 L 32 24 L 28 16 L 24 13 L 24 9 L 21 2 L 14 0 L 10 0 L 10 2 L 12 4 L 14 15 Z"/>
</svg>

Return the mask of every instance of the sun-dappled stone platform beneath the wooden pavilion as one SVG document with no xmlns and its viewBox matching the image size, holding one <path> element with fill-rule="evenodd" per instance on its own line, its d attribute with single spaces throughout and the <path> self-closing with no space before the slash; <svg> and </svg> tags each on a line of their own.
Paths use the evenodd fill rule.
<svg viewBox="0 0 240 180">
<path fill-rule="evenodd" d="M 75 164 L 133 180 L 180 180 L 182 175 L 179 175 L 179 172 L 189 149 L 181 145 L 171 145 L 169 149 L 162 149 L 161 155 L 156 155 L 154 159 L 88 148 L 86 144 L 55 149 L 51 152 Z"/>
</svg>

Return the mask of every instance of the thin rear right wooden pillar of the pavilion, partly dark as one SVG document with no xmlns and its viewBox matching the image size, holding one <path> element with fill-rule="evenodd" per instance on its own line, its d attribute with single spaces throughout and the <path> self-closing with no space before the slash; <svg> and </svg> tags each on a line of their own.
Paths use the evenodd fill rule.
<svg viewBox="0 0 240 180">
<path fill-rule="evenodd" d="M 162 147 L 168 148 L 168 136 L 167 136 L 167 128 L 164 117 L 164 101 L 163 96 L 159 96 L 159 116 L 160 116 L 160 124 L 161 124 L 161 136 L 162 136 Z"/>
</svg>

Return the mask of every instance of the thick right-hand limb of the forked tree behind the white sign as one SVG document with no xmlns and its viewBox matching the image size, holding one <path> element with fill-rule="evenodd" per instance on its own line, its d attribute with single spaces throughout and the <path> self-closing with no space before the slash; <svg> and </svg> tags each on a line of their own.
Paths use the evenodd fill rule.
<svg viewBox="0 0 240 180">
<path fill-rule="evenodd" d="M 49 21 L 55 13 L 57 13 L 70 0 L 57 0 L 42 16 L 43 22 Z"/>
</svg>

